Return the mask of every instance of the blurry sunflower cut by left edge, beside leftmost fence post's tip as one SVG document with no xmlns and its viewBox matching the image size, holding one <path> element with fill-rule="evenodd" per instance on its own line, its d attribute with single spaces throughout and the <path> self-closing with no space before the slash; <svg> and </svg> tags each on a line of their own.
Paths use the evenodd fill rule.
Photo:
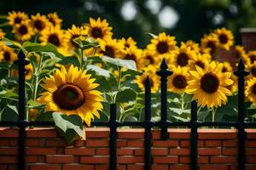
<svg viewBox="0 0 256 170">
<path fill-rule="evenodd" d="M 0 43 L 0 61 L 14 62 L 17 59 L 17 54 L 13 48 L 9 48 L 3 42 Z"/>
</svg>

